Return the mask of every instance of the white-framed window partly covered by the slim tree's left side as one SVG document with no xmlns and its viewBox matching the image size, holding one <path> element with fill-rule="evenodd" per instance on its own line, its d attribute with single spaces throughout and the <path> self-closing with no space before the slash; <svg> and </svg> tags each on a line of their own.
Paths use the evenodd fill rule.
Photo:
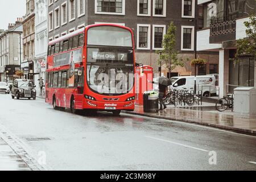
<svg viewBox="0 0 256 182">
<path fill-rule="evenodd" d="M 165 25 L 153 25 L 153 49 L 163 48 L 163 38 L 166 34 Z"/>
</svg>

